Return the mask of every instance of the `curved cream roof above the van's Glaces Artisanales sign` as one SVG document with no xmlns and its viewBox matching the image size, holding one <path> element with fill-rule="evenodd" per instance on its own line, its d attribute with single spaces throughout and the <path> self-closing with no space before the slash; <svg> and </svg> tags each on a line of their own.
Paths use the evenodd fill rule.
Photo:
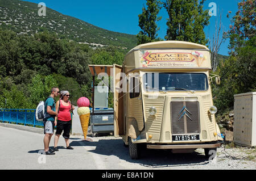
<svg viewBox="0 0 256 181">
<path fill-rule="evenodd" d="M 181 49 L 205 49 L 209 50 L 205 45 L 200 45 L 196 43 L 191 43 L 187 41 L 155 41 L 151 43 L 145 43 L 138 45 L 131 49 L 127 54 L 133 52 L 137 49 L 174 49 L 174 48 L 181 48 Z"/>
</svg>

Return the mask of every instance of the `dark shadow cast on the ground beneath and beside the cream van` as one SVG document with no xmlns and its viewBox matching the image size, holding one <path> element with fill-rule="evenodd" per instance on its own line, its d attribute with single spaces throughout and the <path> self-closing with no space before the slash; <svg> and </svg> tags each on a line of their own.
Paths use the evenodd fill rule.
<svg viewBox="0 0 256 181">
<path fill-rule="evenodd" d="M 76 141 L 78 140 L 78 141 Z M 185 165 L 205 165 L 209 162 L 206 161 L 205 155 L 197 151 L 193 153 L 171 153 L 170 150 L 155 150 L 141 148 L 141 158 L 131 159 L 128 147 L 123 145 L 121 139 L 108 139 L 99 141 L 81 141 L 80 138 L 71 138 L 71 146 L 96 146 L 96 149 L 89 150 L 92 153 L 101 155 L 115 155 L 119 159 L 127 162 L 138 163 L 146 167 L 172 167 L 172 166 L 185 166 Z"/>
</svg>

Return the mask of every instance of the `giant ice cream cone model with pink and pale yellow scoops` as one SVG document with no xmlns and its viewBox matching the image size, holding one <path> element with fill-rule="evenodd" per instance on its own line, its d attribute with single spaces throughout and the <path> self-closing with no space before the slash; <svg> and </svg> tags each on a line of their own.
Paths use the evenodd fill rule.
<svg viewBox="0 0 256 181">
<path fill-rule="evenodd" d="M 84 133 L 84 139 L 86 139 L 87 136 L 87 130 L 88 130 L 88 124 L 90 119 L 90 101 L 88 98 L 81 97 L 77 100 L 77 106 L 79 107 L 77 109 L 77 114 L 80 118 L 80 123 L 82 127 L 82 132 Z"/>
</svg>

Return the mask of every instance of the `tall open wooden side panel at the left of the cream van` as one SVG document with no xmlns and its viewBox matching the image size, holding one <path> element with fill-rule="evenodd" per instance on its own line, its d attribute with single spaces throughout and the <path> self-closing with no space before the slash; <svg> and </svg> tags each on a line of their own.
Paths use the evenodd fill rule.
<svg viewBox="0 0 256 181">
<path fill-rule="evenodd" d="M 124 104 L 123 104 L 123 68 L 120 65 L 113 65 L 114 83 L 114 136 L 119 137 L 125 134 Z M 126 83 L 126 80 L 125 80 Z"/>
</svg>

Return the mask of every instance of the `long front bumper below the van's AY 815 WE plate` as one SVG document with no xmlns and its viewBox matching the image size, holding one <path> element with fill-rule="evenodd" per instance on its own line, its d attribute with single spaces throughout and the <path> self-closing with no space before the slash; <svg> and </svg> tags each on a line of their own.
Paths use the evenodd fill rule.
<svg viewBox="0 0 256 181">
<path fill-rule="evenodd" d="M 197 149 L 197 148 L 218 148 L 221 144 L 193 144 L 193 145 L 147 145 L 148 149 Z"/>
</svg>

